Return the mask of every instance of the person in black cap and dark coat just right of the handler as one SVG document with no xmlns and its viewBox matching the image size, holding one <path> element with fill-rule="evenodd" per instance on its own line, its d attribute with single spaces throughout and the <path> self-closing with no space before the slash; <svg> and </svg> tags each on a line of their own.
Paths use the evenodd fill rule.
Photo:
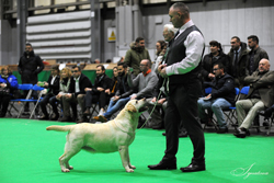
<svg viewBox="0 0 274 183">
<path fill-rule="evenodd" d="M 229 56 L 224 54 L 220 43 L 212 41 L 209 45 L 210 54 L 205 55 L 202 61 L 202 77 L 206 82 L 210 82 L 214 80 L 215 75 L 213 71 L 213 66 L 217 62 L 221 62 L 225 66 L 225 72 L 230 75 Z"/>
</svg>

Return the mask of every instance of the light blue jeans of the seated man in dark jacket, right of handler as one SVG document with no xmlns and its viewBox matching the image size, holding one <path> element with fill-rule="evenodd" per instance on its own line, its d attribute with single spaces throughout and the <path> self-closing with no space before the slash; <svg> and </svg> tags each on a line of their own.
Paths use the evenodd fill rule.
<svg viewBox="0 0 274 183">
<path fill-rule="evenodd" d="M 207 114 L 205 113 L 205 110 L 212 110 L 217 118 L 218 125 L 220 128 L 226 127 L 226 121 L 225 121 L 225 114 L 222 110 L 229 108 L 231 104 L 222 99 L 218 98 L 215 100 L 208 100 L 204 101 L 202 99 L 198 100 L 198 116 L 202 121 L 207 119 Z"/>
</svg>

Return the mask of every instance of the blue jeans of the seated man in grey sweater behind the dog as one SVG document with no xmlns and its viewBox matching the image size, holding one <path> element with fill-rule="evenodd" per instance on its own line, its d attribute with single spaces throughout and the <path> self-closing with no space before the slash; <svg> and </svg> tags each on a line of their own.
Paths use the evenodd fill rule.
<svg viewBox="0 0 274 183">
<path fill-rule="evenodd" d="M 125 104 L 130 100 L 130 98 L 119 99 L 118 101 L 113 101 L 111 99 L 109 107 L 106 112 L 103 114 L 105 118 L 110 119 L 111 116 L 116 113 L 121 107 L 125 106 Z"/>
</svg>

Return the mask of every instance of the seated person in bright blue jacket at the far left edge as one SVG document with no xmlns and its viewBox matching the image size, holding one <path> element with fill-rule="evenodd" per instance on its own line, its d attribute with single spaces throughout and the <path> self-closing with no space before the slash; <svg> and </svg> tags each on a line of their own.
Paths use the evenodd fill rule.
<svg viewBox="0 0 274 183">
<path fill-rule="evenodd" d="M 18 89 L 18 79 L 12 75 L 9 66 L 1 68 L 0 76 L 0 117 L 4 117 L 13 90 Z"/>
</svg>

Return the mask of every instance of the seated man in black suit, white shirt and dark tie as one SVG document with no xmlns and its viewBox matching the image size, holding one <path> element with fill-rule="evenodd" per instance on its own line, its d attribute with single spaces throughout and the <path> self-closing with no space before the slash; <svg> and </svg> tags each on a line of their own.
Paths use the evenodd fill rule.
<svg viewBox="0 0 274 183">
<path fill-rule="evenodd" d="M 69 84 L 69 91 L 62 99 L 64 115 L 60 122 L 77 122 L 77 103 L 81 106 L 82 112 L 84 111 L 84 94 L 85 88 L 91 88 L 92 83 L 87 76 L 81 72 L 79 66 L 72 67 L 73 80 Z M 72 108 L 73 117 L 70 117 L 70 106 Z"/>
</svg>

